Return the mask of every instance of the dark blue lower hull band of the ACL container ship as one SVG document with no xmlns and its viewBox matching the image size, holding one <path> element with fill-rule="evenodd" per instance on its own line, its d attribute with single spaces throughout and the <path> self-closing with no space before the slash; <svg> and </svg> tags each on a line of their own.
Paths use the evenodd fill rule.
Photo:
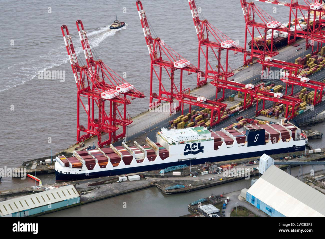
<svg viewBox="0 0 325 239">
<path fill-rule="evenodd" d="M 240 158 L 257 157 L 257 156 L 262 156 L 263 153 L 271 155 L 271 154 L 278 154 L 278 153 L 297 152 L 297 151 L 303 151 L 303 150 L 305 150 L 305 145 L 284 148 L 284 149 L 273 149 L 273 150 L 258 151 L 258 152 L 251 152 L 251 153 L 231 154 L 231 155 L 227 155 L 227 156 L 192 159 L 192 165 L 204 164 L 205 162 L 221 162 L 221 161 L 230 161 L 230 160 L 240 159 Z M 115 170 L 107 170 L 107 171 L 98 171 L 98 172 L 94 172 L 94 173 L 89 173 L 88 175 L 86 175 L 86 174 L 62 174 L 62 173 L 55 171 L 55 179 L 56 180 L 65 180 L 65 181 L 91 179 L 91 178 L 98 178 L 98 177 L 106 177 L 106 176 L 123 175 L 123 174 L 138 173 L 138 172 L 145 172 L 145 171 L 152 171 L 152 170 L 160 170 L 160 169 L 164 169 L 164 168 L 167 168 L 170 166 L 178 166 L 178 165 L 184 165 L 184 164 L 189 166 L 190 160 L 177 161 L 177 162 L 165 163 L 165 164 L 154 164 L 154 165 L 148 165 L 148 166 L 129 167 L 129 168 L 122 168 L 122 169 L 115 169 Z"/>
</svg>

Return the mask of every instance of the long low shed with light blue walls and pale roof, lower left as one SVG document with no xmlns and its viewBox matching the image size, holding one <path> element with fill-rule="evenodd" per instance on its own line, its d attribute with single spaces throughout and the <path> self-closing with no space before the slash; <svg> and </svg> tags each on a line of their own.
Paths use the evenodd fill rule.
<svg viewBox="0 0 325 239">
<path fill-rule="evenodd" d="M 80 202 L 73 185 L 0 202 L 0 217 L 27 217 Z"/>
</svg>

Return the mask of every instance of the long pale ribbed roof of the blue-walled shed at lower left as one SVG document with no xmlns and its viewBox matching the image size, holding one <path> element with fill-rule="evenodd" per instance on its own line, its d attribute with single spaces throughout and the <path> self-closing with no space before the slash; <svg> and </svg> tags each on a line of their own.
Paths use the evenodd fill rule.
<svg viewBox="0 0 325 239">
<path fill-rule="evenodd" d="M 79 193 L 73 187 L 73 185 L 51 189 L 49 191 L 40 193 L 33 193 L 23 197 L 0 202 L 0 216 L 5 216 L 39 206 L 49 205 L 50 203 L 57 203 L 79 196 Z"/>
</svg>

